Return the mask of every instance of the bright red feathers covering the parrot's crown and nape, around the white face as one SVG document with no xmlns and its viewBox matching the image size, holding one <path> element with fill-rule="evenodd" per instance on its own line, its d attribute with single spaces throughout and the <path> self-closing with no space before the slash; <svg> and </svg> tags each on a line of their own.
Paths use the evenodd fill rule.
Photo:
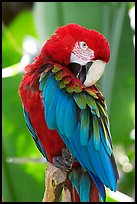
<svg viewBox="0 0 137 204">
<path fill-rule="evenodd" d="M 93 60 L 100 59 L 108 63 L 110 59 L 110 46 L 106 38 L 96 30 L 89 30 L 78 24 L 68 24 L 57 29 L 42 47 L 36 59 L 37 64 L 52 60 L 55 63 L 68 65 L 70 54 L 76 41 L 84 41 L 94 50 Z M 50 56 L 50 58 L 48 58 Z"/>
</svg>

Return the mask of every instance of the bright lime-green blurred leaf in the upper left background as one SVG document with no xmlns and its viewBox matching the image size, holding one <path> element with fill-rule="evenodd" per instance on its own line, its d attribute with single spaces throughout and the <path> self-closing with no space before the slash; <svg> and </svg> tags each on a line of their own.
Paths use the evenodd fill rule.
<svg viewBox="0 0 137 204">
<path fill-rule="evenodd" d="M 26 35 L 37 37 L 32 13 L 28 10 L 19 13 L 8 27 L 2 26 L 2 67 L 20 61 Z"/>
</svg>

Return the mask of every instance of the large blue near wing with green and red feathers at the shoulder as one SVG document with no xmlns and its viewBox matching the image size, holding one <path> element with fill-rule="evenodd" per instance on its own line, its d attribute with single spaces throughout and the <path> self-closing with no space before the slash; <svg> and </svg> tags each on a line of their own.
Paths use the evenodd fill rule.
<svg viewBox="0 0 137 204">
<path fill-rule="evenodd" d="M 118 171 L 105 104 L 95 92 L 81 89 L 67 74 L 59 70 L 56 73 L 56 69 L 54 67 L 40 79 L 46 123 L 59 132 L 102 194 L 102 183 L 116 191 Z"/>
</svg>

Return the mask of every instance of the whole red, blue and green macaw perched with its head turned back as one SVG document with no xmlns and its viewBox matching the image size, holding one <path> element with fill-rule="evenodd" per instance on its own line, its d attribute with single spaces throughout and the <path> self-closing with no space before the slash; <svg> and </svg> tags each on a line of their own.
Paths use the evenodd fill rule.
<svg viewBox="0 0 137 204">
<path fill-rule="evenodd" d="M 19 85 L 25 123 L 48 162 L 67 172 L 72 202 L 105 202 L 117 190 L 106 100 L 98 80 L 110 61 L 103 34 L 79 24 L 56 28 Z"/>
</svg>

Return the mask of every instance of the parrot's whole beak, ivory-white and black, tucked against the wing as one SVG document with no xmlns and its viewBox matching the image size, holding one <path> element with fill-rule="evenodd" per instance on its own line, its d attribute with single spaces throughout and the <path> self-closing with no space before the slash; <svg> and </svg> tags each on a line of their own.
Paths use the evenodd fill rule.
<svg viewBox="0 0 137 204">
<path fill-rule="evenodd" d="M 102 60 L 89 61 L 85 65 L 71 62 L 69 68 L 85 86 L 89 87 L 95 84 L 102 76 L 105 69 L 105 62 Z"/>
</svg>

